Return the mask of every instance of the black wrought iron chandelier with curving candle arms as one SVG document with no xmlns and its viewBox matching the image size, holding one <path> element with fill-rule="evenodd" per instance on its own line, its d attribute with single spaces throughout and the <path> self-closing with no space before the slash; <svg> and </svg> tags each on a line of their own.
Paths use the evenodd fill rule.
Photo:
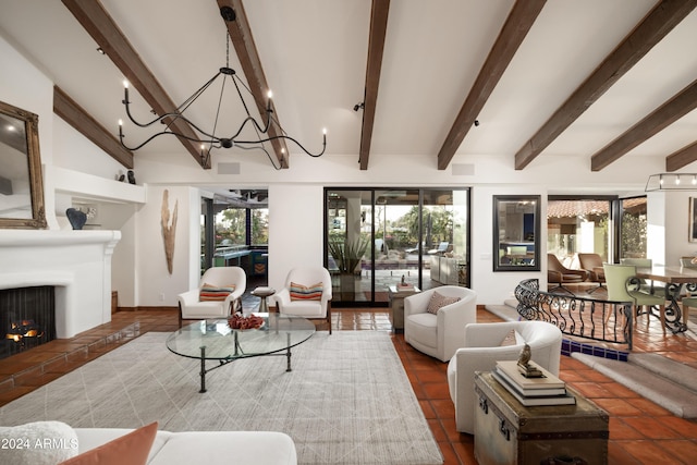
<svg viewBox="0 0 697 465">
<path fill-rule="evenodd" d="M 232 11 L 227 12 L 221 10 L 221 14 L 225 21 L 234 21 L 234 12 Z M 280 167 L 277 167 L 276 162 L 273 161 L 273 157 L 271 157 L 271 155 L 265 147 L 265 143 L 270 143 L 273 139 L 290 140 L 294 143 L 305 154 L 309 155 L 310 157 L 321 157 L 325 154 L 325 150 L 327 149 L 327 130 L 326 129 L 322 130 L 321 151 L 313 154 L 309 150 L 307 150 L 297 139 L 288 135 L 283 130 L 283 127 L 281 127 L 281 125 L 279 124 L 278 120 L 273 118 L 273 109 L 272 109 L 273 107 L 271 105 L 271 97 L 272 97 L 271 90 L 269 90 L 266 96 L 267 97 L 266 110 L 264 111 L 264 114 L 261 114 L 262 122 L 259 123 L 259 121 L 257 121 L 257 119 L 255 119 L 250 114 L 249 107 L 245 101 L 243 91 L 246 91 L 246 94 L 249 95 L 248 98 L 252 98 L 253 100 L 255 99 L 255 96 L 253 95 L 252 90 L 246 86 L 246 84 L 240 77 L 237 77 L 235 71 L 230 68 L 230 41 L 231 41 L 230 33 L 225 30 L 225 50 L 227 50 L 225 65 L 221 68 L 208 82 L 206 82 L 201 87 L 199 87 L 194 94 L 192 94 L 191 97 L 188 97 L 179 107 L 176 107 L 174 111 L 158 115 L 157 118 L 155 118 L 149 122 L 140 123 L 136 121 L 135 118 L 133 118 L 133 114 L 131 113 L 131 107 L 130 107 L 131 101 L 129 100 L 129 82 L 124 81 L 123 83 L 124 98 L 122 100 L 122 103 L 125 107 L 126 115 L 129 117 L 131 122 L 139 127 L 150 127 L 155 124 L 161 123 L 164 125 L 164 129 L 156 134 L 152 134 L 150 137 L 145 139 L 139 145 L 129 146 L 124 143 L 125 135 L 123 134 L 123 121 L 119 120 L 119 139 L 121 142 L 121 145 L 127 148 L 129 150 L 135 151 L 143 148 L 149 142 L 151 142 L 152 139 L 159 136 L 162 136 L 162 135 L 178 136 L 180 138 L 188 139 L 194 143 L 200 144 L 201 166 L 204 167 L 208 163 L 208 160 L 210 158 L 210 151 L 212 149 L 239 147 L 242 149 L 262 150 L 264 152 L 266 152 L 267 157 L 269 157 L 269 160 L 273 164 L 273 168 L 278 170 L 280 169 Z M 208 131 L 208 130 L 201 129 L 200 124 L 195 123 L 189 118 L 187 118 L 184 113 L 216 81 L 218 81 L 219 77 L 222 77 L 222 79 L 221 79 L 221 86 L 220 86 L 220 96 L 218 98 L 218 107 L 216 108 L 216 118 L 212 124 L 212 129 Z M 216 132 L 218 131 L 218 122 L 221 113 L 221 108 L 223 108 L 225 83 L 228 81 L 231 81 L 232 85 L 234 85 L 236 95 L 240 98 L 242 107 L 244 108 L 244 111 L 246 113 L 246 118 L 242 121 L 242 123 L 240 124 L 236 131 L 228 132 L 225 135 L 221 135 L 220 132 L 218 132 L 218 134 L 216 134 Z M 256 105 L 256 101 L 255 101 L 255 105 Z M 172 123 L 175 120 L 183 120 L 186 123 L 188 123 L 188 125 L 195 132 L 195 137 L 192 137 L 191 135 L 182 134 L 173 130 Z M 269 134 L 269 129 L 272 125 L 276 125 L 276 127 L 279 130 L 278 131 L 279 135 L 273 136 Z M 248 136 L 246 137 L 242 136 L 242 132 L 247 126 L 250 126 L 253 129 L 253 131 L 256 133 L 256 137 L 248 138 Z M 283 152 L 283 149 L 281 149 L 281 151 Z"/>
</svg>

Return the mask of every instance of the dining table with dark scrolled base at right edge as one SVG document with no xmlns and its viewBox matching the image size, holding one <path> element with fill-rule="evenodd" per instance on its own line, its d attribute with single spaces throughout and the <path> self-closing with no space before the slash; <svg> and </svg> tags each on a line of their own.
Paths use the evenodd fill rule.
<svg viewBox="0 0 697 465">
<path fill-rule="evenodd" d="M 680 298 L 684 291 L 697 291 L 697 268 L 680 266 L 652 266 L 650 268 L 638 267 L 636 277 L 643 280 L 659 281 L 665 283 L 665 327 L 673 334 L 687 330 L 687 315 L 684 315 L 680 306 Z"/>
</svg>

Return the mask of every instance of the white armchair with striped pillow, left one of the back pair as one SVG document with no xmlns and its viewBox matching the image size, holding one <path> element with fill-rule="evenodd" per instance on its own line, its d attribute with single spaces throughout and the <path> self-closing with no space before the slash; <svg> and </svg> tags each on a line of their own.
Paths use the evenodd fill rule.
<svg viewBox="0 0 697 465">
<path fill-rule="evenodd" d="M 200 291 L 204 284 L 216 287 L 234 286 L 234 291 L 219 297 L 204 297 L 201 301 Z M 200 278 L 198 287 L 176 296 L 179 301 L 179 327 L 182 327 L 182 320 L 227 318 L 232 311 L 242 309 L 241 298 L 246 286 L 247 274 L 240 267 L 212 267 L 207 269 Z"/>
</svg>

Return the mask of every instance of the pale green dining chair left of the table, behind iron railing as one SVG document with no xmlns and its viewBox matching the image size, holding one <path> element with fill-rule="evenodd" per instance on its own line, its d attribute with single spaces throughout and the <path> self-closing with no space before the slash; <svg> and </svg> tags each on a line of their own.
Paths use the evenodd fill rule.
<svg viewBox="0 0 697 465">
<path fill-rule="evenodd" d="M 661 328 L 663 335 L 665 335 L 665 295 L 655 295 L 641 291 L 636 278 L 636 267 L 633 265 L 604 264 L 602 268 L 608 285 L 608 301 L 633 302 L 635 326 L 640 307 L 648 307 L 646 313 L 647 325 L 648 318 L 651 315 L 650 307 L 658 307 Z M 637 285 L 635 286 L 633 282 L 637 282 Z"/>
</svg>

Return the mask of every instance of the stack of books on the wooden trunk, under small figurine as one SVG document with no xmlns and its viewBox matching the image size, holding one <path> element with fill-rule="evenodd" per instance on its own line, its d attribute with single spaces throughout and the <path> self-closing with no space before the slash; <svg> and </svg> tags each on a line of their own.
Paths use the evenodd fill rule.
<svg viewBox="0 0 697 465">
<path fill-rule="evenodd" d="M 566 391 L 564 381 L 533 362 L 529 364 L 539 369 L 542 376 L 526 378 L 517 362 L 505 360 L 497 362 L 493 377 L 525 406 L 573 405 L 576 403 L 576 397 Z"/>
</svg>

